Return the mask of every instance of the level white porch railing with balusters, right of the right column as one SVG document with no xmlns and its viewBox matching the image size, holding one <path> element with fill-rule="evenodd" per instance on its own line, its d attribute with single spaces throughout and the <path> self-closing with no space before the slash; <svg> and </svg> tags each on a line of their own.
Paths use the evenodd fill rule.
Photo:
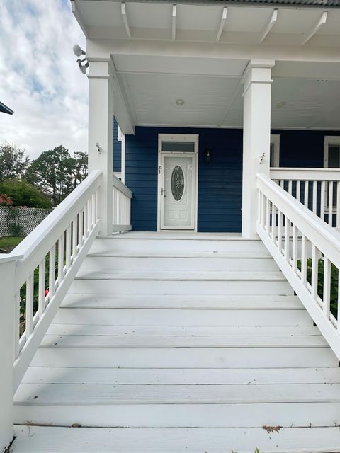
<svg viewBox="0 0 340 453">
<path fill-rule="evenodd" d="M 330 226 L 340 228 L 340 169 L 271 168 L 271 179 Z"/>
</svg>

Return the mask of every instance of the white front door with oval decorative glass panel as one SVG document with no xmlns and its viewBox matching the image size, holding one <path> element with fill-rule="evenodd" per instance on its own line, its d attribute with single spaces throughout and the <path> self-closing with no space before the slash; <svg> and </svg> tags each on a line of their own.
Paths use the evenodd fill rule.
<svg viewBox="0 0 340 453">
<path fill-rule="evenodd" d="M 196 155 L 162 154 L 161 229 L 195 229 Z"/>
</svg>

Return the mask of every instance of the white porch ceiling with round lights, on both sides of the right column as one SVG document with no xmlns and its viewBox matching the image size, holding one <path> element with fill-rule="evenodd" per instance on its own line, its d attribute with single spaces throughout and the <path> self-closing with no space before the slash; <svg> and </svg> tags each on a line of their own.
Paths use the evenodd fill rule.
<svg viewBox="0 0 340 453">
<path fill-rule="evenodd" d="M 113 56 L 113 60 L 135 125 L 242 127 L 241 76 L 247 62 L 186 59 L 181 66 L 176 58 L 166 62 L 145 58 L 137 70 L 132 57 Z M 143 72 L 142 67 L 147 69 Z M 340 129 L 336 77 L 340 79 L 339 64 L 278 63 L 273 69 L 272 127 Z M 183 105 L 176 105 L 177 99 L 183 99 Z"/>
</svg>

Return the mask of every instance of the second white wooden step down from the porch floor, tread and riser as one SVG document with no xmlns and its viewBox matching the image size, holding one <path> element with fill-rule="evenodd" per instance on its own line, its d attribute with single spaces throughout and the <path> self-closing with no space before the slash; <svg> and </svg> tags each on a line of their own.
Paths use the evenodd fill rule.
<svg viewBox="0 0 340 453">
<path fill-rule="evenodd" d="M 171 275 L 170 275 L 171 274 Z M 242 274 L 242 275 L 240 275 Z M 293 294 L 281 273 L 79 273 L 69 293 Z"/>
</svg>

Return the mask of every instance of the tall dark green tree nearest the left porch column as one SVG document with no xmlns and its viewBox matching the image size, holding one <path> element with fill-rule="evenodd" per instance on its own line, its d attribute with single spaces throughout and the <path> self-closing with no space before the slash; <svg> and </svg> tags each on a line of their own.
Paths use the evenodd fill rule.
<svg viewBox="0 0 340 453">
<path fill-rule="evenodd" d="M 40 154 L 32 161 L 26 173 L 28 182 L 49 196 L 54 206 L 72 192 L 70 159 L 68 149 L 60 145 Z"/>
</svg>

